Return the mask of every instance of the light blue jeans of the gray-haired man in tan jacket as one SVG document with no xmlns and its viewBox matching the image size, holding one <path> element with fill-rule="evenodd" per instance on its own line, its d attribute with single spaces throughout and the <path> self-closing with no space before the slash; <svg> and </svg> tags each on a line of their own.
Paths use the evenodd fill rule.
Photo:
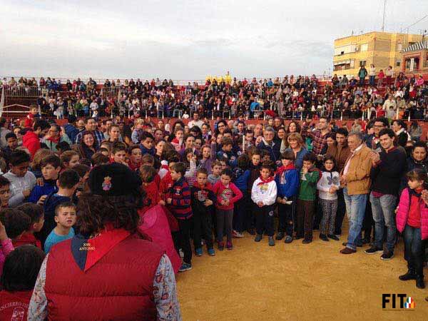
<svg viewBox="0 0 428 321">
<path fill-rule="evenodd" d="M 357 243 L 361 243 L 361 227 L 362 220 L 364 220 L 367 194 L 348 195 L 347 188 L 344 188 L 343 197 L 345 198 L 347 218 L 350 223 L 346 246 L 352 250 L 357 250 Z"/>
</svg>

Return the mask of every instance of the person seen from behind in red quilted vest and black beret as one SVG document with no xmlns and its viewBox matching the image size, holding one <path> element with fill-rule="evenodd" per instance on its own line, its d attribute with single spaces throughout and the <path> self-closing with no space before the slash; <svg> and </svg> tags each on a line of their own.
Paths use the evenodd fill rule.
<svg viewBox="0 0 428 321">
<path fill-rule="evenodd" d="M 88 188 L 80 233 L 46 255 L 28 320 L 182 320 L 170 259 L 138 233 L 141 178 L 119 163 L 99 165 Z"/>
</svg>

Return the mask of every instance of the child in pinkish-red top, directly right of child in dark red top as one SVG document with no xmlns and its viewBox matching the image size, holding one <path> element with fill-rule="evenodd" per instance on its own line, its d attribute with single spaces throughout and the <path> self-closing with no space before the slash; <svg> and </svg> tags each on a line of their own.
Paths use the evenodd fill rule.
<svg viewBox="0 0 428 321">
<path fill-rule="evenodd" d="M 232 170 L 225 169 L 221 173 L 220 180 L 213 186 L 213 192 L 217 196 L 216 216 L 217 216 L 217 240 L 218 250 L 224 250 L 223 229 L 226 230 L 226 248 L 233 249 L 232 245 L 232 225 L 233 225 L 233 205 L 243 197 L 243 193 L 231 183 L 233 177 Z"/>
</svg>

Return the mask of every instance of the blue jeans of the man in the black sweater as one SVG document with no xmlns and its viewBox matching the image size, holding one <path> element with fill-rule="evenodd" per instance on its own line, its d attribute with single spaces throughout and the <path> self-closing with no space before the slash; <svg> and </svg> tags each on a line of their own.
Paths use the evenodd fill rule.
<svg viewBox="0 0 428 321">
<path fill-rule="evenodd" d="M 374 220 L 374 246 L 383 248 L 384 226 L 387 226 L 387 243 L 385 247 L 389 252 L 394 252 L 397 228 L 394 222 L 394 210 L 397 207 L 397 196 L 382 195 L 375 198 L 370 193 L 370 203 L 372 203 L 372 213 Z"/>
</svg>

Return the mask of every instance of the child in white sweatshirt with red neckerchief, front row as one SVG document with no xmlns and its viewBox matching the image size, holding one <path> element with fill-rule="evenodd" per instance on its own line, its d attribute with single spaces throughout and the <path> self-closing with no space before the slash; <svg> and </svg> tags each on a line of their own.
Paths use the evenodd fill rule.
<svg viewBox="0 0 428 321">
<path fill-rule="evenodd" d="M 272 175 L 271 162 L 265 162 L 260 168 L 260 177 L 255 180 L 251 189 L 251 199 L 255 203 L 255 242 L 262 240 L 263 232 L 267 234 L 269 246 L 275 245 L 273 240 L 273 205 L 277 196 L 277 185 Z"/>
</svg>

